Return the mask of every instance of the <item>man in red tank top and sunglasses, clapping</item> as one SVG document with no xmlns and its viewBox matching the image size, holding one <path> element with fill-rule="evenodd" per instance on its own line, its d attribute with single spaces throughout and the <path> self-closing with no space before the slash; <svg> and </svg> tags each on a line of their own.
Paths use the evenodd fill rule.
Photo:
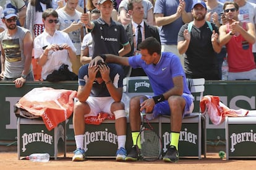
<svg viewBox="0 0 256 170">
<path fill-rule="evenodd" d="M 256 80 L 256 69 L 252 45 L 255 43 L 255 28 L 251 22 L 238 19 L 239 6 L 225 2 L 224 15 L 228 23 L 220 27 L 220 43 L 226 45 L 228 53 L 228 80 Z"/>
</svg>

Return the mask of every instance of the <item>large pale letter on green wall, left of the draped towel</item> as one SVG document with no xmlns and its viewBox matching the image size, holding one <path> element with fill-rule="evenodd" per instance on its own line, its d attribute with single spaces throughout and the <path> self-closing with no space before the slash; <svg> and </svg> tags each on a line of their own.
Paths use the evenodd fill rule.
<svg viewBox="0 0 256 170">
<path fill-rule="evenodd" d="M 6 97 L 6 101 L 10 103 L 10 124 L 6 124 L 6 129 L 17 129 L 17 117 L 14 114 L 14 105 L 20 100 L 21 97 Z M 7 106 L 4 104 L 3 106 Z"/>
</svg>

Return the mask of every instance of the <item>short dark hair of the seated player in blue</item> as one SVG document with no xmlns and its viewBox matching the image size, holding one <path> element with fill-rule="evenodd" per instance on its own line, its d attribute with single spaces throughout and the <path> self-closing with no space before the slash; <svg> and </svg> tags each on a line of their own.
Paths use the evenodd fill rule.
<svg viewBox="0 0 256 170">
<path fill-rule="evenodd" d="M 150 55 L 153 53 L 161 54 L 161 45 L 153 36 L 150 36 L 142 41 L 139 45 L 139 49 L 147 49 L 148 54 Z"/>
</svg>

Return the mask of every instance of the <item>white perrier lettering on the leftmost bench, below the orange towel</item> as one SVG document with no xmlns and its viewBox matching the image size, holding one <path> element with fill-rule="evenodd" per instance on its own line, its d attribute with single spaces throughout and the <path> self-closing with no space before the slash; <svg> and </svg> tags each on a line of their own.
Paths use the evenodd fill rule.
<svg viewBox="0 0 256 170">
<path fill-rule="evenodd" d="M 22 152 L 25 152 L 27 150 L 26 146 L 32 142 L 44 142 L 44 143 L 48 143 L 49 145 L 52 145 L 53 136 L 49 134 L 45 134 L 44 130 L 41 130 L 41 132 L 35 132 L 32 134 L 27 134 L 27 133 L 23 134 L 22 135 Z"/>
</svg>

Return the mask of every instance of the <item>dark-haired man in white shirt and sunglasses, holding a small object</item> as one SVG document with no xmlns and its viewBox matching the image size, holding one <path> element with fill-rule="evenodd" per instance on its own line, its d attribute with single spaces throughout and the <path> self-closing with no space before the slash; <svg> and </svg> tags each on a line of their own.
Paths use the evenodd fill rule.
<svg viewBox="0 0 256 170">
<path fill-rule="evenodd" d="M 59 20 L 54 9 L 43 11 L 42 19 L 45 30 L 34 40 L 35 59 L 38 59 L 38 64 L 42 66 L 41 78 L 48 80 L 48 75 L 61 69 L 62 64 L 69 66 L 67 69 L 72 72 L 71 61 L 76 59 L 77 49 L 67 33 L 56 30 Z"/>
</svg>

